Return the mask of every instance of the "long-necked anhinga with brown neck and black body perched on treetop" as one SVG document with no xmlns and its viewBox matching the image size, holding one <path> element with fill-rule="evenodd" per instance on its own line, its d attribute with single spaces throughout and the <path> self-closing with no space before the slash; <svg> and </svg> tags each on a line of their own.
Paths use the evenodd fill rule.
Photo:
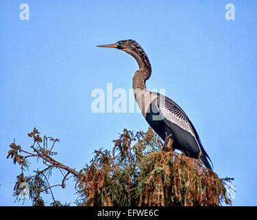
<svg viewBox="0 0 257 220">
<path fill-rule="evenodd" d="M 199 135 L 186 113 L 170 98 L 147 90 L 145 81 L 151 76 L 151 64 L 142 47 L 134 40 L 97 47 L 114 47 L 136 59 L 139 69 L 133 76 L 133 89 L 145 120 L 165 141 L 167 148 L 172 145 L 173 150 L 176 148 L 188 157 L 199 158 L 207 168 L 212 169 L 208 162 L 210 157 L 201 145 Z"/>
</svg>

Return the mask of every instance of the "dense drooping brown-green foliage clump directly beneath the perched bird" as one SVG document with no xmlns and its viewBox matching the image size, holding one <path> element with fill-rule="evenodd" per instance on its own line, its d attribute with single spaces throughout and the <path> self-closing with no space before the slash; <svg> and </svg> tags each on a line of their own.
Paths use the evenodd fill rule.
<svg viewBox="0 0 257 220">
<path fill-rule="evenodd" d="M 225 181 L 198 159 L 161 151 L 147 133 L 124 129 L 111 151 L 95 151 L 80 170 L 77 189 L 83 206 L 219 206 L 230 203 Z M 134 143 L 134 144 L 133 144 Z"/>
</svg>

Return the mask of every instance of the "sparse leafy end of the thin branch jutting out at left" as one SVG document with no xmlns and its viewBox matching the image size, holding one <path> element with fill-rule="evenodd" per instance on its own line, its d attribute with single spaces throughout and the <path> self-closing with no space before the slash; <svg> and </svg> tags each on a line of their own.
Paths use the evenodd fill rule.
<svg viewBox="0 0 257 220">
<path fill-rule="evenodd" d="M 50 192 L 53 199 L 51 206 L 61 206 L 60 201 L 54 199 L 53 192 L 51 191 L 51 187 L 53 186 L 50 186 L 48 181 L 51 176 L 51 170 L 53 167 L 57 167 L 53 166 L 53 163 L 56 163 L 56 161 L 51 156 L 56 155 L 52 149 L 54 144 L 59 140 L 46 136 L 43 138 L 40 137 L 40 132 L 38 132 L 36 128 L 34 128 L 31 133 L 28 133 L 28 136 L 32 137 L 34 140 L 34 143 L 30 146 L 33 150 L 32 152 L 25 151 L 20 145 L 16 145 L 16 143 L 13 142 L 10 144 L 11 149 L 8 151 L 7 155 L 7 158 L 11 157 L 13 159 L 14 164 L 18 163 L 21 166 L 21 173 L 16 177 L 16 183 L 14 185 L 15 201 L 25 201 L 25 198 L 22 197 L 22 192 L 27 187 L 28 198 L 32 199 L 33 206 L 45 206 L 42 194 L 49 194 Z M 47 148 L 47 142 L 52 143 L 51 148 Z M 42 164 L 45 164 L 46 168 L 34 170 L 34 175 L 25 176 L 24 173 L 29 170 L 28 159 L 32 157 L 36 157 L 37 161 L 42 159 Z M 54 186 L 64 186 L 65 179 L 66 176 L 62 184 Z"/>
</svg>

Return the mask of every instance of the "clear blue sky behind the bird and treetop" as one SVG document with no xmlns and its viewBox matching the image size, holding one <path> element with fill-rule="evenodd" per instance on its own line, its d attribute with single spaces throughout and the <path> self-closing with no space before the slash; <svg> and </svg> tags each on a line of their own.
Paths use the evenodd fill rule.
<svg viewBox="0 0 257 220">
<path fill-rule="evenodd" d="M 21 20 L 21 3 L 29 21 Z M 235 20 L 225 19 L 233 3 Z M 112 148 L 123 128 L 146 131 L 140 113 L 93 113 L 95 88 L 132 88 L 134 59 L 95 45 L 134 39 L 152 65 L 149 89 L 165 89 L 195 125 L 219 177 L 234 177 L 235 206 L 256 206 L 257 2 L 1 1 L 0 206 L 17 206 L 19 166 L 9 144 L 29 148 L 34 126 L 60 139 L 60 162 L 79 170 L 95 149 Z M 115 98 L 114 98 L 115 100 Z M 33 166 L 34 167 L 34 166 Z M 33 168 L 32 168 L 33 169 Z M 58 183 L 54 175 L 51 184 Z M 53 188 L 77 198 L 70 179 Z M 49 205 L 51 197 L 46 197 Z M 30 206 L 31 201 L 25 201 Z"/>
</svg>

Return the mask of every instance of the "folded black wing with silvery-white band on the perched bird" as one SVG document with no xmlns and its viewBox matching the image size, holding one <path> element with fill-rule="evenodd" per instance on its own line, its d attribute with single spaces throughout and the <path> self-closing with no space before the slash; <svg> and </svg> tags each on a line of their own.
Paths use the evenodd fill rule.
<svg viewBox="0 0 257 220">
<path fill-rule="evenodd" d="M 151 103 L 151 108 L 158 109 L 155 111 L 160 113 L 159 121 L 153 121 L 152 114 L 151 122 L 149 122 L 149 117 L 147 120 L 150 125 L 153 125 L 153 129 L 156 133 L 158 133 L 163 140 L 165 138 L 165 132 L 168 134 L 171 133 L 173 135 L 175 148 L 184 151 L 186 155 L 194 158 L 199 157 L 199 153 L 201 153 L 201 161 L 206 167 L 212 169 L 208 162 L 210 157 L 201 145 L 195 127 L 180 106 L 170 98 L 158 94 L 158 98 Z"/>
</svg>

